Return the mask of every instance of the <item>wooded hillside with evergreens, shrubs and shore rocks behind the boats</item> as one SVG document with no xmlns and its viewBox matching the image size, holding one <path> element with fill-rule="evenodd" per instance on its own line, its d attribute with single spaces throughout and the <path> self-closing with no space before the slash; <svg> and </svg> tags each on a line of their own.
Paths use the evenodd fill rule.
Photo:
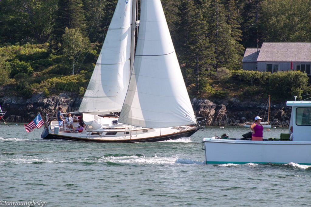
<svg viewBox="0 0 311 207">
<path fill-rule="evenodd" d="M 189 97 L 205 124 L 252 121 L 271 95 L 271 120 L 285 126 L 290 117 L 285 102 L 311 93 L 306 73 L 241 69 L 246 47 L 311 42 L 310 1 L 161 2 Z M 0 105 L 7 121 L 29 122 L 58 105 L 77 110 L 115 5 L 115 0 L 0 1 Z"/>
</svg>

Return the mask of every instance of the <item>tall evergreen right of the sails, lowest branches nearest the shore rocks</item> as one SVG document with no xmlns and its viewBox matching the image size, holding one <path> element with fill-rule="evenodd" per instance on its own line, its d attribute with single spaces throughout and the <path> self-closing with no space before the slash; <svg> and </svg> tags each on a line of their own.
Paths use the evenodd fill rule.
<svg viewBox="0 0 311 207">
<path fill-rule="evenodd" d="M 207 71 L 214 61 L 214 51 L 207 37 L 207 5 L 208 1 L 188 0 L 183 7 L 184 31 L 183 59 L 187 70 L 187 80 L 192 91 L 197 95 L 207 84 Z"/>
</svg>

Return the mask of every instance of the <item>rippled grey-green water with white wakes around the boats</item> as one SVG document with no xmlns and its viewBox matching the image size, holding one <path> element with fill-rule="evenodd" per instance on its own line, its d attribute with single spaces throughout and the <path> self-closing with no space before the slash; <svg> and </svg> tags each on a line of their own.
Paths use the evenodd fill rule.
<svg viewBox="0 0 311 207">
<path fill-rule="evenodd" d="M 204 164 L 202 138 L 241 137 L 241 127 L 207 127 L 154 143 L 43 140 L 42 129 L 0 125 L 0 199 L 47 206 L 309 206 L 309 166 Z M 264 131 L 279 137 L 287 129 Z M 230 156 L 230 155 L 228 155 Z"/>
</svg>

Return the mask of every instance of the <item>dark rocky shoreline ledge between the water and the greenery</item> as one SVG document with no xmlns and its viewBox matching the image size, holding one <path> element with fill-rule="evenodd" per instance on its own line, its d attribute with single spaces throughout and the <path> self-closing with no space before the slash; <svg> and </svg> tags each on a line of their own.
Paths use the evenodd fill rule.
<svg viewBox="0 0 311 207">
<path fill-rule="evenodd" d="M 18 97 L 1 97 L 0 105 L 7 113 L 7 122 L 28 123 L 37 115 L 56 113 L 58 106 L 66 112 L 78 110 L 82 98 L 70 97 L 65 93 L 58 96 L 44 97 L 43 93 L 34 94 L 30 99 Z M 197 117 L 206 118 L 201 125 L 206 126 L 242 126 L 244 122 L 252 122 L 263 108 L 264 103 L 245 101 L 236 98 L 211 101 L 208 99 L 191 100 Z M 286 104 L 272 104 L 270 122 L 274 127 L 289 127 L 291 107 Z M 262 115 L 264 115 L 264 111 Z M 262 117 L 263 118 L 263 117 Z"/>
</svg>

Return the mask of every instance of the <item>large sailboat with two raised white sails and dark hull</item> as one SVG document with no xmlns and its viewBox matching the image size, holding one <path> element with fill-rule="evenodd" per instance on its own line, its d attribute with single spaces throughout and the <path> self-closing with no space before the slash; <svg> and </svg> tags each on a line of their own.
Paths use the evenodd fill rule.
<svg viewBox="0 0 311 207">
<path fill-rule="evenodd" d="M 88 142 L 156 142 L 199 128 L 160 0 L 119 0 L 74 128 L 46 115 L 41 137 Z M 139 24 L 138 24 L 139 22 Z M 134 58 L 135 27 L 139 26 Z M 119 112 L 120 115 L 114 113 Z M 75 117 L 74 117 L 75 118 Z M 76 122 L 75 122 L 76 121 Z"/>
</svg>

